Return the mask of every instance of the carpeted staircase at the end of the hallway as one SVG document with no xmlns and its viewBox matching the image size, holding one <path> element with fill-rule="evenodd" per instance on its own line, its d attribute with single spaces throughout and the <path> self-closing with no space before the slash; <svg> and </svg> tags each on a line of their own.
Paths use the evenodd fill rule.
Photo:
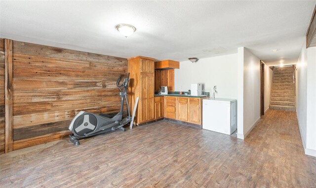
<svg viewBox="0 0 316 188">
<path fill-rule="evenodd" d="M 296 111 L 292 66 L 274 68 L 270 109 Z"/>
</svg>

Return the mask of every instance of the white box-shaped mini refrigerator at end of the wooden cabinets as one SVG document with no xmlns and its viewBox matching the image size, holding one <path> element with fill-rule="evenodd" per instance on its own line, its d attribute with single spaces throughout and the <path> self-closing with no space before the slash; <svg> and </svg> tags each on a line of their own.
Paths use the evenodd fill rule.
<svg viewBox="0 0 316 188">
<path fill-rule="evenodd" d="M 236 100 L 203 99 L 202 128 L 231 135 L 236 130 Z"/>
</svg>

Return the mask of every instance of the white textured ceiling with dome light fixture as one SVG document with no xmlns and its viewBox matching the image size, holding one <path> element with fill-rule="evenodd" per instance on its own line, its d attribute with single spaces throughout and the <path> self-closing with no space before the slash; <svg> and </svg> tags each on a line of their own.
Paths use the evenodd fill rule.
<svg viewBox="0 0 316 188">
<path fill-rule="evenodd" d="M 296 63 L 312 1 L 0 1 L 0 37 L 111 55 L 184 61 L 237 53 Z M 124 38 L 115 26 L 137 31 Z M 272 49 L 280 49 L 272 52 Z"/>
</svg>

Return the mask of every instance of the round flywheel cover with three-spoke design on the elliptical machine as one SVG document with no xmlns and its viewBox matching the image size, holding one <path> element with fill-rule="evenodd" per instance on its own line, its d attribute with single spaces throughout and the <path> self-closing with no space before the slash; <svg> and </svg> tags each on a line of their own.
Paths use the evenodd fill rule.
<svg viewBox="0 0 316 188">
<path fill-rule="evenodd" d="M 90 113 L 80 115 L 74 123 L 74 132 L 79 136 L 84 136 L 96 129 L 98 124 L 97 118 Z"/>
</svg>

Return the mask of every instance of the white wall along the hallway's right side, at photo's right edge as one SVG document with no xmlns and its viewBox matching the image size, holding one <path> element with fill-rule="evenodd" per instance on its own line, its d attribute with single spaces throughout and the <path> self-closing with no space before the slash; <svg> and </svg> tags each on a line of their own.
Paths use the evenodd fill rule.
<svg viewBox="0 0 316 188">
<path fill-rule="evenodd" d="M 316 157 L 316 47 L 305 46 L 297 61 L 296 112 L 305 154 Z"/>
</svg>

